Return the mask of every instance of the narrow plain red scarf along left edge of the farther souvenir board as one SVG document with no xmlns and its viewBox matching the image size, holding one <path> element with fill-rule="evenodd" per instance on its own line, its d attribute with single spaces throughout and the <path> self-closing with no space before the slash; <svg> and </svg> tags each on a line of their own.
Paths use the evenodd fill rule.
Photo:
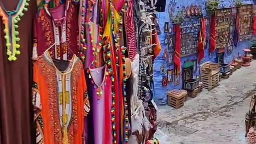
<svg viewBox="0 0 256 144">
<path fill-rule="evenodd" d="M 215 20 L 215 15 L 211 16 L 211 27 L 210 27 L 210 32 L 211 32 L 211 38 L 210 38 L 210 53 L 214 52 L 216 49 L 216 20 Z"/>
</svg>

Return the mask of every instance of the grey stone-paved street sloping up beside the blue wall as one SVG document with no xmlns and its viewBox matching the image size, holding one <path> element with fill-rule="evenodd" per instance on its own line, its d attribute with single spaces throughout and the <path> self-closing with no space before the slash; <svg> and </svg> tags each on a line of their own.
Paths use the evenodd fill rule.
<svg viewBox="0 0 256 144">
<path fill-rule="evenodd" d="M 244 115 L 250 96 L 256 93 L 255 86 L 253 61 L 221 80 L 213 90 L 189 98 L 178 110 L 159 106 L 158 128 L 168 136 L 161 144 L 246 144 Z"/>
</svg>

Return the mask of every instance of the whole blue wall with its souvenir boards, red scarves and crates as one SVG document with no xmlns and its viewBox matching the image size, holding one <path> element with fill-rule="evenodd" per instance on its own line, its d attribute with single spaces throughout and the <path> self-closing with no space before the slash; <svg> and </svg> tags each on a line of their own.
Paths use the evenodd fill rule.
<svg viewBox="0 0 256 144">
<path fill-rule="evenodd" d="M 155 99 L 161 105 L 180 108 L 186 96 L 194 98 L 202 88 L 211 90 L 236 69 L 250 65 L 255 54 L 255 42 L 250 48 L 256 27 L 253 6 L 243 0 L 169 1 L 168 12 L 160 14 L 165 48 L 154 62 L 155 86 L 160 87 Z"/>
</svg>

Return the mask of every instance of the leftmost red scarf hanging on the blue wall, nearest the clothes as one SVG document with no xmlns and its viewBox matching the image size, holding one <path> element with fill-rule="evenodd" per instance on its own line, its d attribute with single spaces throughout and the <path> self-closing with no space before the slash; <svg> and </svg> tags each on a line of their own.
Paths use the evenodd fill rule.
<svg viewBox="0 0 256 144">
<path fill-rule="evenodd" d="M 181 62 L 180 62 L 180 51 L 181 51 L 181 35 L 180 35 L 180 33 L 181 33 L 181 29 L 180 29 L 180 24 L 176 24 L 174 26 L 174 29 L 176 31 L 174 64 L 176 65 L 178 72 L 180 72 L 180 68 L 181 68 Z"/>
</svg>

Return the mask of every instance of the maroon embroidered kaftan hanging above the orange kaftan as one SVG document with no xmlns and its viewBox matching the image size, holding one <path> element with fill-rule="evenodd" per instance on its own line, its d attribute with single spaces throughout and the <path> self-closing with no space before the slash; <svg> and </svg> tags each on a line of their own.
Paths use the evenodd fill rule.
<svg viewBox="0 0 256 144">
<path fill-rule="evenodd" d="M 70 60 L 78 54 L 78 6 L 70 0 L 66 4 L 48 9 L 38 9 L 34 20 L 33 57 L 36 59 L 47 48 L 52 58 Z"/>
</svg>

